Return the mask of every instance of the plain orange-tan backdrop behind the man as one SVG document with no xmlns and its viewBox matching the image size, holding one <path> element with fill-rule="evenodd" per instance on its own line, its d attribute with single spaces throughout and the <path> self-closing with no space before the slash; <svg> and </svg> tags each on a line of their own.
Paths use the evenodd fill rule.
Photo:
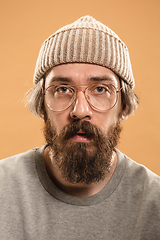
<svg viewBox="0 0 160 240">
<path fill-rule="evenodd" d="M 119 149 L 160 175 L 160 0 L 1 0 L 0 158 L 44 144 L 43 123 L 22 99 L 42 42 L 83 15 L 129 48 L 141 106 L 125 121 Z"/>
</svg>

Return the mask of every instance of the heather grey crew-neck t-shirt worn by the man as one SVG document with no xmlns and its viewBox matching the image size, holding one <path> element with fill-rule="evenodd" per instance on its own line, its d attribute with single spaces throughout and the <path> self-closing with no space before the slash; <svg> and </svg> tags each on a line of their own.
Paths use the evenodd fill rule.
<svg viewBox="0 0 160 240">
<path fill-rule="evenodd" d="M 120 151 L 96 195 L 67 195 L 50 180 L 44 146 L 0 161 L 1 240 L 158 240 L 160 178 Z"/>
</svg>

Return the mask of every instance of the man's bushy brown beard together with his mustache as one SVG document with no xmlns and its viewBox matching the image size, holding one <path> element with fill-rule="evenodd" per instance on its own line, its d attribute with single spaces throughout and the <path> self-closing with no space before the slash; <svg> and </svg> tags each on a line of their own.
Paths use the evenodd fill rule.
<svg viewBox="0 0 160 240">
<path fill-rule="evenodd" d="M 115 146 L 121 132 L 120 121 L 110 126 L 107 134 L 88 121 L 76 120 L 66 125 L 59 134 L 45 119 L 44 136 L 49 146 L 51 161 L 70 183 L 91 184 L 103 180 L 110 171 Z M 82 130 L 90 142 L 75 142 L 71 138 Z"/>
</svg>

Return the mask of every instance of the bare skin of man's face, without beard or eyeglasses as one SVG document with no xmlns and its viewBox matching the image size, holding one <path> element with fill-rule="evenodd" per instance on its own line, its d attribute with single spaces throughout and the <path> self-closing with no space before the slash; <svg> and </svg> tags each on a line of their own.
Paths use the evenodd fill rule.
<svg viewBox="0 0 160 240">
<path fill-rule="evenodd" d="M 113 84 L 117 90 L 120 89 L 118 76 L 111 70 L 92 64 L 62 64 L 53 67 L 47 74 L 45 79 L 45 88 L 52 84 L 66 84 L 61 79 L 68 79 L 68 83 L 73 86 L 88 86 L 94 84 L 94 78 L 106 78 L 105 82 Z M 53 81 L 56 78 L 56 81 Z M 60 79 L 58 81 L 58 79 Z M 66 110 L 62 112 L 54 112 L 50 110 L 45 102 L 45 109 L 51 124 L 55 127 L 57 133 L 63 129 L 64 126 L 70 124 L 76 119 L 89 121 L 91 124 L 99 127 L 104 133 L 108 132 L 109 127 L 116 123 L 121 111 L 121 97 L 118 94 L 117 104 L 106 112 L 96 111 L 92 109 L 84 93 L 79 91 L 77 93 L 76 101 Z M 77 136 L 75 141 L 85 141 Z"/>
</svg>

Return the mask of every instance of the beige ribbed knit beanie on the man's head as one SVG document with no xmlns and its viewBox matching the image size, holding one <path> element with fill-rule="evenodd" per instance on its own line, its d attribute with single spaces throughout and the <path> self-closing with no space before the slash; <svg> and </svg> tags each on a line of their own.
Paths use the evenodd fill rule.
<svg viewBox="0 0 160 240">
<path fill-rule="evenodd" d="M 36 63 L 34 83 L 50 68 L 64 63 L 92 63 L 107 67 L 134 88 L 126 45 L 110 28 L 93 17 L 81 17 L 44 41 Z"/>
</svg>

